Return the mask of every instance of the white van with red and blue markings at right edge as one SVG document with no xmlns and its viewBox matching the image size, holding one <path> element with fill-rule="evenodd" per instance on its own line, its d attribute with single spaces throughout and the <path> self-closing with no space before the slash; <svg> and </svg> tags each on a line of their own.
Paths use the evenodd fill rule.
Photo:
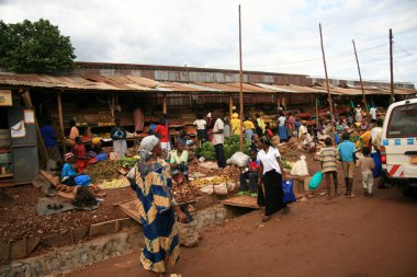
<svg viewBox="0 0 417 277">
<path fill-rule="evenodd" d="M 417 99 L 390 105 L 381 140 L 381 162 L 385 181 L 417 186 Z"/>
</svg>

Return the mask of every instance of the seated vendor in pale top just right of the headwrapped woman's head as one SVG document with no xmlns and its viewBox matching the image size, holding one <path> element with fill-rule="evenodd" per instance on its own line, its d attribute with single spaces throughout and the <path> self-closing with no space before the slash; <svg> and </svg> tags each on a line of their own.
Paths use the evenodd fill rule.
<svg viewBox="0 0 417 277">
<path fill-rule="evenodd" d="M 171 151 L 171 173 L 172 178 L 178 184 L 182 184 L 183 180 L 181 174 L 184 176 L 185 181 L 189 181 L 189 152 L 185 150 L 185 142 L 182 139 L 176 140 L 176 150 Z"/>
</svg>

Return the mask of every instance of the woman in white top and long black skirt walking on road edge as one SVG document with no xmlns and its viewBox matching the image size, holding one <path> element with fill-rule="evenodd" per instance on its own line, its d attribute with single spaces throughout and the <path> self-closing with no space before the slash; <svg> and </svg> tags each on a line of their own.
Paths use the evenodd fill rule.
<svg viewBox="0 0 417 277">
<path fill-rule="evenodd" d="M 259 172 L 261 173 L 261 189 L 258 189 L 258 205 L 261 207 L 264 206 L 264 217 L 262 221 L 266 222 L 273 213 L 281 209 L 284 209 L 285 212 L 289 211 L 289 207 L 283 203 L 281 185 L 282 175 L 285 173 L 281 163 L 280 151 L 272 146 L 268 138 L 261 137 L 258 140 L 258 160 L 260 161 Z"/>
</svg>

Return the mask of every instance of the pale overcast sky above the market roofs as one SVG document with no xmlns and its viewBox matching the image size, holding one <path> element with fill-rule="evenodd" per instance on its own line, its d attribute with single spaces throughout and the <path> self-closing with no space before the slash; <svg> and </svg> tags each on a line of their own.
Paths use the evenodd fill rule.
<svg viewBox="0 0 417 277">
<path fill-rule="evenodd" d="M 79 61 L 238 69 L 417 83 L 416 0 L 0 0 L 0 19 L 47 19 L 70 36 Z"/>
</svg>

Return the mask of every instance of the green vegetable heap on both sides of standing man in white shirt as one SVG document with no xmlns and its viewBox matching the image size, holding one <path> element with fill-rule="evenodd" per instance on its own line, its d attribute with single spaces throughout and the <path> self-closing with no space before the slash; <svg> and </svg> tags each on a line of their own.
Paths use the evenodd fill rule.
<svg viewBox="0 0 417 277">
<path fill-rule="evenodd" d="M 249 154 L 250 141 L 245 140 L 244 143 L 244 153 Z M 225 158 L 230 159 L 230 157 L 240 151 L 240 137 L 238 135 L 232 135 L 228 138 L 225 138 L 224 143 L 224 153 Z M 204 157 L 206 160 L 215 160 L 215 150 L 214 146 L 211 142 L 204 142 L 201 148 L 196 150 L 196 154 L 200 157 Z"/>
</svg>

